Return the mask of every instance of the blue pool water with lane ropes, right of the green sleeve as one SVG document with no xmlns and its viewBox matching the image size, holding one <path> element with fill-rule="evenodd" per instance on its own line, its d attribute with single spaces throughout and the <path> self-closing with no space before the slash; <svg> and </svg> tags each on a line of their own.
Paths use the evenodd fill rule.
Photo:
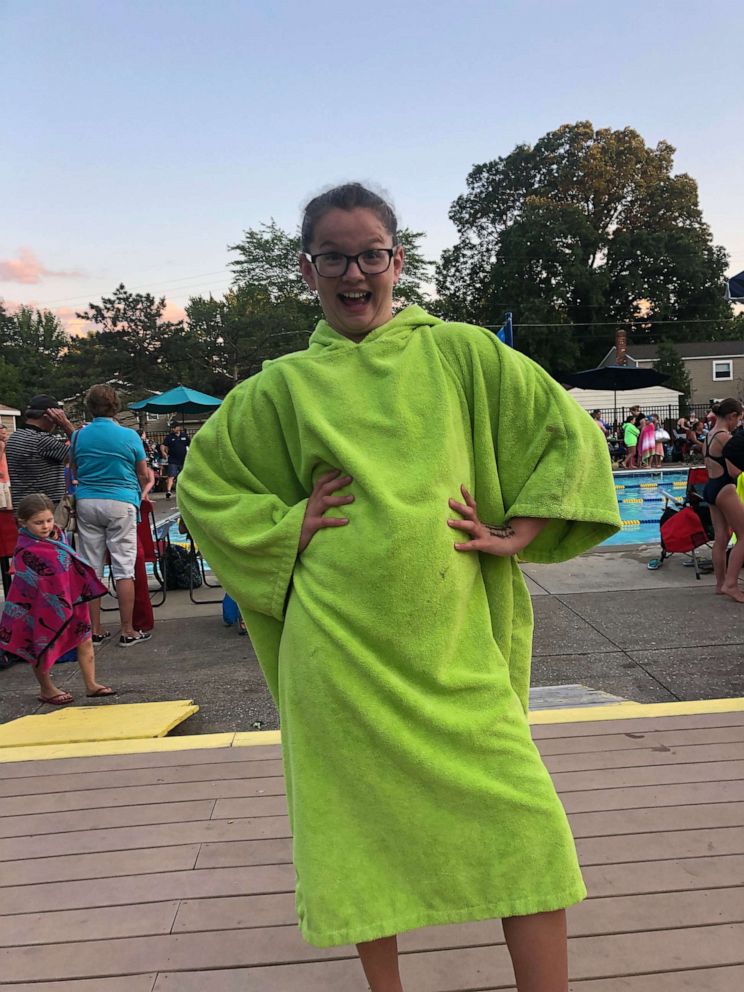
<svg viewBox="0 0 744 992">
<path fill-rule="evenodd" d="M 613 544 L 658 544 L 659 519 L 664 510 L 660 489 L 684 498 L 687 470 L 657 472 L 614 472 L 617 504 L 623 526 L 617 534 L 602 542 Z"/>
</svg>

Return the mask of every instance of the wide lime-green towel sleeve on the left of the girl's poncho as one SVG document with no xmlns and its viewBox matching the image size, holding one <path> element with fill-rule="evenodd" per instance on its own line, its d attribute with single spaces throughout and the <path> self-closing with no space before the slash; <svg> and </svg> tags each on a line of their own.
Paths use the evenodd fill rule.
<svg viewBox="0 0 744 992">
<path fill-rule="evenodd" d="M 260 379 L 234 389 L 194 437 L 178 481 L 179 506 L 241 610 L 282 621 L 307 494 Z"/>
</svg>

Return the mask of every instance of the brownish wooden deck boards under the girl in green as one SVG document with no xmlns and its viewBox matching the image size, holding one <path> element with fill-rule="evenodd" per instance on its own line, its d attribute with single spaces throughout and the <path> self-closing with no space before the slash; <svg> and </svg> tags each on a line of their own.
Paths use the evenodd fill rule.
<svg viewBox="0 0 744 992">
<path fill-rule="evenodd" d="M 744 987 L 744 713 L 534 736 L 590 898 L 572 992 Z M 296 929 L 274 746 L 0 768 L 0 992 L 355 992 Z M 497 922 L 400 940 L 407 992 L 513 989 Z"/>
</svg>

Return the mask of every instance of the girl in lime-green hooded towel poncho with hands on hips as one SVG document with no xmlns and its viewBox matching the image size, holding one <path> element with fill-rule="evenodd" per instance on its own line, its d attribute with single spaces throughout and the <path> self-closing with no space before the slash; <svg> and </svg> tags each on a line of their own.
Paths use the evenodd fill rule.
<svg viewBox="0 0 744 992">
<path fill-rule="evenodd" d="M 607 445 L 491 332 L 393 315 L 396 230 L 357 184 L 308 205 L 325 320 L 199 431 L 181 509 L 279 708 L 304 937 L 400 992 L 396 934 L 500 918 L 520 992 L 565 992 L 585 889 L 527 723 L 517 555 L 617 530 Z"/>
</svg>

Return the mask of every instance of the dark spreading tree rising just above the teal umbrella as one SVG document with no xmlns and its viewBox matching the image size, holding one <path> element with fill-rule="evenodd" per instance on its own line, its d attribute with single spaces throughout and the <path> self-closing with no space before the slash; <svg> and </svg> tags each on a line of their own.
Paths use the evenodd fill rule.
<svg viewBox="0 0 744 992">
<path fill-rule="evenodd" d="M 96 324 L 102 349 L 101 374 L 139 392 L 174 385 L 173 370 L 163 361 L 164 341 L 183 331 L 183 321 L 162 320 L 165 297 L 132 293 L 121 283 L 113 296 L 89 303 L 77 316 Z M 90 335 L 89 335 L 90 337 Z"/>
</svg>

